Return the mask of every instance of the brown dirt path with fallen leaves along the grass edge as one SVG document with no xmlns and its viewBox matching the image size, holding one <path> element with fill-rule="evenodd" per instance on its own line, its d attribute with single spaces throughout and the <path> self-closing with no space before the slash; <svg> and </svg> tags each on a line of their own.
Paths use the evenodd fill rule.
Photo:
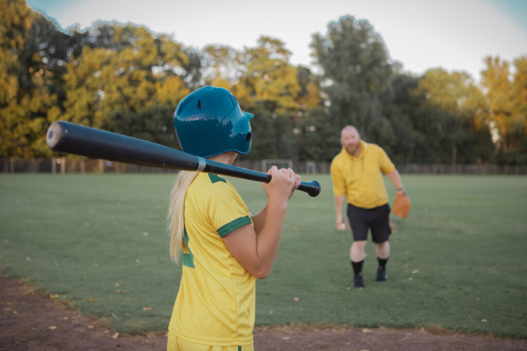
<svg viewBox="0 0 527 351">
<path fill-rule="evenodd" d="M 256 350 L 527 350 L 527 340 L 465 335 L 439 328 L 360 329 L 281 326 L 255 329 Z M 0 274 L 0 350 L 164 350 L 165 333 L 118 335 L 104 319 Z"/>
</svg>

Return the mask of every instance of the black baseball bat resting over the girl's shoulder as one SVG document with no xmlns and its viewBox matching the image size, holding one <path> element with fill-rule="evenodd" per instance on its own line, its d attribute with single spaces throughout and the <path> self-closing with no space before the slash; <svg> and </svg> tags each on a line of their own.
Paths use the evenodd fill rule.
<svg viewBox="0 0 527 351">
<path fill-rule="evenodd" d="M 211 161 L 168 146 L 79 124 L 57 121 L 46 132 L 46 143 L 53 151 L 134 165 L 207 172 L 269 183 L 271 176 L 241 167 Z M 298 190 L 310 196 L 320 194 L 316 180 L 301 182 Z"/>
</svg>

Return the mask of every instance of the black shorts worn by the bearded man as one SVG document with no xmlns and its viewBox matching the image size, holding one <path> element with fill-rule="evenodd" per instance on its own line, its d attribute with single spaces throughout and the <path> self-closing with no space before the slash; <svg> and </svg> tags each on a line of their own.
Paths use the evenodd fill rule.
<svg viewBox="0 0 527 351">
<path fill-rule="evenodd" d="M 390 207 L 388 204 L 374 208 L 362 208 L 348 204 L 349 224 L 352 226 L 353 240 L 366 240 L 368 229 L 372 229 L 374 243 L 388 240 L 392 229 L 389 225 Z"/>
</svg>

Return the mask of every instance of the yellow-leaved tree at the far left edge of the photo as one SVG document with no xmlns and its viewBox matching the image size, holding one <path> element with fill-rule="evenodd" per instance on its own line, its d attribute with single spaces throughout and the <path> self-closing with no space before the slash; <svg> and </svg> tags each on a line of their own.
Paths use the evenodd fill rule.
<svg viewBox="0 0 527 351">
<path fill-rule="evenodd" d="M 22 0 L 0 1 L 0 155 L 50 155 L 48 121 L 56 119 L 55 56 L 38 42 L 53 28 Z M 51 28 L 51 29 L 50 29 Z"/>
</svg>

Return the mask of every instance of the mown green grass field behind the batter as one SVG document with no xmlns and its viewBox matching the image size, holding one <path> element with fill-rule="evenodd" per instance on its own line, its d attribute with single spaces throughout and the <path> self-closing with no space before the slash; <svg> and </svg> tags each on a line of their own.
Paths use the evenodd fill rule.
<svg viewBox="0 0 527 351">
<path fill-rule="evenodd" d="M 181 268 L 165 229 L 174 175 L 0 175 L 0 269 L 58 294 L 122 333 L 165 329 Z M 391 237 L 389 279 L 350 289 L 351 234 L 334 228 L 329 175 L 290 200 L 271 275 L 257 282 L 257 325 L 440 326 L 527 337 L 527 177 L 403 175 L 412 200 Z M 229 179 L 252 212 L 255 182 Z M 392 185 L 388 185 L 393 196 Z M 393 197 L 392 197 L 393 199 Z"/>
</svg>

